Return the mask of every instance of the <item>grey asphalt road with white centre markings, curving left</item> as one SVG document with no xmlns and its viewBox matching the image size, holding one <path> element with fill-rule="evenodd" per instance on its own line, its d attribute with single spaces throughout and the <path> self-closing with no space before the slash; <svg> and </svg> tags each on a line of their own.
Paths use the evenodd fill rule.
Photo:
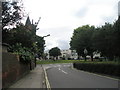
<svg viewBox="0 0 120 90">
<path fill-rule="evenodd" d="M 76 70 L 71 66 L 72 64 L 43 65 L 51 88 L 118 88 L 117 79 Z"/>
</svg>

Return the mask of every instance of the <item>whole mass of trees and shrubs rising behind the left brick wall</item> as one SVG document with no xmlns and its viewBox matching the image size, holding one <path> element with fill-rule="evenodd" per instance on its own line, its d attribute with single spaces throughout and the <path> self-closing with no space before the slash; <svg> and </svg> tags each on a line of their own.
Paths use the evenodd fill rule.
<svg viewBox="0 0 120 90">
<path fill-rule="evenodd" d="M 35 59 L 35 54 L 43 55 L 45 41 L 36 35 L 39 20 L 34 24 L 28 17 L 25 25 L 20 22 L 24 10 L 19 5 L 20 2 L 2 2 L 2 43 L 10 45 L 9 52 L 17 53 L 22 61 L 29 62 Z"/>
</svg>

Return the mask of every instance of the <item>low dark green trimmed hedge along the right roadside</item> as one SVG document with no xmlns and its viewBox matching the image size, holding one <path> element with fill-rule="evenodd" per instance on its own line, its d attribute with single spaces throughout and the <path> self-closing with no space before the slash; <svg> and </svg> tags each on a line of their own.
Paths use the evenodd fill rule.
<svg viewBox="0 0 120 90">
<path fill-rule="evenodd" d="M 73 63 L 73 67 L 79 70 L 108 74 L 120 77 L 120 64 L 114 63 Z"/>
</svg>

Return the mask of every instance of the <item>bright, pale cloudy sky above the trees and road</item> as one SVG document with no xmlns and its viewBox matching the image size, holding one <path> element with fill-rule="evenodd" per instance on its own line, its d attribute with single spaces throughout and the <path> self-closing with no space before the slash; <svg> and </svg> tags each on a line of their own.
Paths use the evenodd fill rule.
<svg viewBox="0 0 120 90">
<path fill-rule="evenodd" d="M 45 50 L 69 49 L 74 29 L 82 25 L 102 26 L 118 18 L 119 0 L 23 0 L 26 13 L 38 21 L 37 35 L 45 37 Z"/>
</svg>

